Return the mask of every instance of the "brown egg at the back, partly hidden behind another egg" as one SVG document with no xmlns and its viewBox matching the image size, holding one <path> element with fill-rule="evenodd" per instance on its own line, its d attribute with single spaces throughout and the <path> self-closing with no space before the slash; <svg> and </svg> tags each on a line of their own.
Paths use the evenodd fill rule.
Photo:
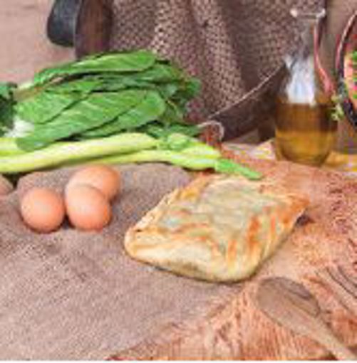
<svg viewBox="0 0 357 363">
<path fill-rule="evenodd" d="M 111 200 L 119 192 L 120 175 L 115 169 L 106 165 L 92 165 L 76 172 L 68 182 L 68 188 L 78 184 L 93 186 Z"/>
</svg>

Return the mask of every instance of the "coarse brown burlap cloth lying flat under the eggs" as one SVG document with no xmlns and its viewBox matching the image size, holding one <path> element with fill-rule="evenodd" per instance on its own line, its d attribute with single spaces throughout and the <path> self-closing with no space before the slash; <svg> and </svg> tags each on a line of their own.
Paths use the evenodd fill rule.
<svg viewBox="0 0 357 363">
<path fill-rule="evenodd" d="M 17 205 L 26 190 L 61 191 L 72 170 L 24 177 L 16 193 L 0 199 L 0 359 L 105 359 L 233 290 L 125 256 L 128 226 L 189 177 L 165 165 L 120 170 L 123 193 L 103 233 L 67 226 L 39 235 L 20 220 Z"/>
</svg>

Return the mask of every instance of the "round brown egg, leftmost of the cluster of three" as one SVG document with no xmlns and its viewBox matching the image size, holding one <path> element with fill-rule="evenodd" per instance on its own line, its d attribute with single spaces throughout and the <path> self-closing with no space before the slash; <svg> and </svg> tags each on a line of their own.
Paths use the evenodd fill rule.
<svg viewBox="0 0 357 363">
<path fill-rule="evenodd" d="M 21 199 L 21 216 L 35 231 L 56 231 L 65 216 L 63 198 L 51 189 L 33 188 Z"/>
</svg>

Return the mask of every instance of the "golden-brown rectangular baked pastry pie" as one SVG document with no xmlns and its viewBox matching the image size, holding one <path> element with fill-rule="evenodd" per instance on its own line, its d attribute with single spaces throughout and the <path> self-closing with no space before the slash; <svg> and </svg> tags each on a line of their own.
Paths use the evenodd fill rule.
<svg viewBox="0 0 357 363">
<path fill-rule="evenodd" d="M 254 273 L 308 201 L 266 181 L 209 175 L 166 196 L 125 236 L 133 258 L 209 281 Z"/>
</svg>

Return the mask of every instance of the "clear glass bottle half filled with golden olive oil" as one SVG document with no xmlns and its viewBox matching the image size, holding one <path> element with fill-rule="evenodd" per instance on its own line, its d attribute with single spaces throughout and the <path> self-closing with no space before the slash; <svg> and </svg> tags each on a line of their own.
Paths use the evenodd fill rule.
<svg viewBox="0 0 357 363">
<path fill-rule="evenodd" d="M 321 14 L 291 11 L 302 28 L 301 47 L 286 58 L 288 76 L 276 102 L 275 147 L 279 159 L 321 165 L 336 140 L 331 117 L 331 86 L 316 54 L 316 31 Z"/>
</svg>

